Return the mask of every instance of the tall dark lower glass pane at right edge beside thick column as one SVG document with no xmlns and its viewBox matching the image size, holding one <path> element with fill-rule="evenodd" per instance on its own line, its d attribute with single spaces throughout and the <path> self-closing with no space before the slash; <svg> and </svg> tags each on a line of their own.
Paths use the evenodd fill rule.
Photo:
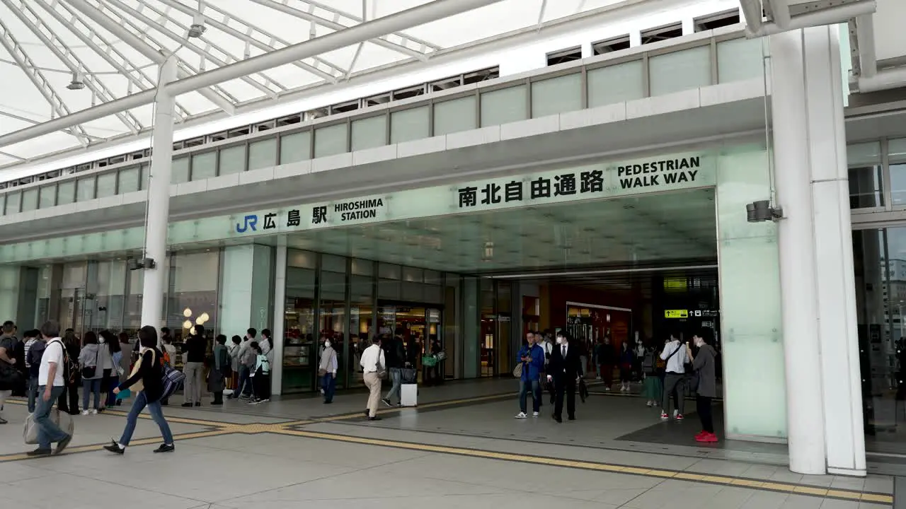
<svg viewBox="0 0 906 509">
<path fill-rule="evenodd" d="M 866 448 L 906 453 L 906 228 L 853 232 Z"/>
</svg>

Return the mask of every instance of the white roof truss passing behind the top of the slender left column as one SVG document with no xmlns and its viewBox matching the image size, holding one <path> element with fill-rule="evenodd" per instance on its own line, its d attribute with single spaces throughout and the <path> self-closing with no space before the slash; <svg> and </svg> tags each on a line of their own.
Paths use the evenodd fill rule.
<svg viewBox="0 0 906 509">
<path fill-rule="evenodd" d="M 57 9 L 53 8 L 52 5 L 47 4 L 45 0 L 34 0 L 37 5 L 41 5 L 48 14 L 53 16 L 53 19 L 57 20 L 60 24 L 63 24 L 66 28 L 69 29 L 72 34 L 79 38 L 82 43 L 92 48 L 94 53 L 97 53 L 105 62 L 109 63 L 111 67 L 120 72 L 121 75 L 125 76 L 133 86 L 138 87 L 141 91 L 146 91 L 153 89 L 157 86 L 154 80 L 151 80 L 149 74 L 145 72 L 136 62 L 132 62 L 132 59 L 127 57 L 124 53 L 116 47 L 115 44 L 111 43 L 106 37 L 98 34 L 98 32 L 89 24 L 86 24 L 82 19 L 82 16 L 75 14 L 74 9 L 69 5 L 63 4 L 62 2 L 57 2 L 54 6 L 59 6 L 63 9 L 65 16 L 60 13 Z M 95 42 L 97 39 L 97 42 Z M 114 58 L 115 57 L 115 58 Z M 189 116 L 188 110 L 183 107 L 179 102 L 176 103 L 177 110 L 184 117 Z"/>
</svg>

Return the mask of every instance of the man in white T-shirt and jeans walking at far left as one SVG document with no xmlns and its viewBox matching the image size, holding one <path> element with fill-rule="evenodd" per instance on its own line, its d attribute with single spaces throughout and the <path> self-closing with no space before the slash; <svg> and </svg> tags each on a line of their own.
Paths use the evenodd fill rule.
<svg viewBox="0 0 906 509">
<path fill-rule="evenodd" d="M 34 423 L 38 427 L 38 448 L 30 451 L 28 456 L 49 456 L 60 454 L 72 440 L 50 418 L 53 402 L 60 398 L 66 385 L 63 382 L 65 347 L 60 339 L 60 324 L 44 322 L 41 336 L 47 341 L 47 347 L 41 356 L 41 367 L 38 370 L 38 401 L 34 410 Z M 56 443 L 55 451 L 51 444 Z"/>
</svg>

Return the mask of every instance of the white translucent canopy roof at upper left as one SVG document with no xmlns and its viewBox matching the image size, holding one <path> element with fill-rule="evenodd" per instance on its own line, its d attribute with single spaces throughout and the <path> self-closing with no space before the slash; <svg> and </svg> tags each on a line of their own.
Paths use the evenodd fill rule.
<svg viewBox="0 0 906 509">
<path fill-rule="evenodd" d="M 159 54 L 179 77 L 429 4 L 429 0 L 0 0 L 0 136 L 153 89 Z M 387 66 L 594 14 L 623 0 L 501 0 L 317 57 L 180 95 L 178 122 L 267 106 Z M 203 17 L 199 17 L 203 16 Z M 193 24 L 204 33 L 189 36 Z M 193 34 L 194 35 L 194 34 Z M 157 58 L 156 58 L 157 57 Z M 83 87 L 81 86 L 83 85 Z M 152 105 L 0 148 L 0 168 L 148 130 Z"/>
</svg>

